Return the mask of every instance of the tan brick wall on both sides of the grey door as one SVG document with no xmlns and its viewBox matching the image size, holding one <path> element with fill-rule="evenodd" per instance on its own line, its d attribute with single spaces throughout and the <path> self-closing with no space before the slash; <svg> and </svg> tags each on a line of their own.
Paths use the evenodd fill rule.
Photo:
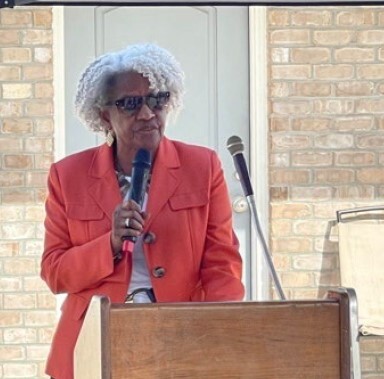
<svg viewBox="0 0 384 379">
<path fill-rule="evenodd" d="M 39 278 L 53 159 L 52 15 L 0 10 L 0 377 L 44 378 L 55 299 Z M 383 8 L 269 8 L 270 240 L 290 298 L 339 284 L 335 211 L 384 194 Z M 384 378 L 384 340 L 361 343 Z"/>
</svg>

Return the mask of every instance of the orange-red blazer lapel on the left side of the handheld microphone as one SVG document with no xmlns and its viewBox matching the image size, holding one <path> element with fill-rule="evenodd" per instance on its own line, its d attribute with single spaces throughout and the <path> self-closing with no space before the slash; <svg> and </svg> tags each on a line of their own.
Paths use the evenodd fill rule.
<svg viewBox="0 0 384 379">
<path fill-rule="evenodd" d="M 117 204 L 121 202 L 121 194 L 113 164 L 112 148 L 104 144 L 96 150 L 88 174 L 91 181 L 88 189 L 90 196 L 107 217 L 112 219 L 113 211 Z"/>
</svg>

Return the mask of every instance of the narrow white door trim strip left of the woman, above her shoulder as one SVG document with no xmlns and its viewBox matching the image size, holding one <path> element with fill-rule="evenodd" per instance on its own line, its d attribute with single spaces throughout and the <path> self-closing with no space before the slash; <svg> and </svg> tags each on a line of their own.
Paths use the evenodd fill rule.
<svg viewBox="0 0 384 379">
<path fill-rule="evenodd" d="M 65 156 L 64 7 L 53 7 L 54 160 Z"/>
</svg>

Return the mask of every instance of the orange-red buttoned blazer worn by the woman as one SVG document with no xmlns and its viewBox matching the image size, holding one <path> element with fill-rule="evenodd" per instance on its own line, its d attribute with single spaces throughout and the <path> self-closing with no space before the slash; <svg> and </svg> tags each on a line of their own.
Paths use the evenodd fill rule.
<svg viewBox="0 0 384 379">
<path fill-rule="evenodd" d="M 41 277 L 67 293 L 46 372 L 73 378 L 73 350 L 93 295 L 124 302 L 131 256 L 114 265 L 111 217 L 122 201 L 112 149 L 95 147 L 49 172 Z M 164 137 L 152 168 L 144 254 L 158 302 L 242 300 L 242 261 L 217 154 Z M 129 343 L 129 336 L 127 336 Z"/>
</svg>

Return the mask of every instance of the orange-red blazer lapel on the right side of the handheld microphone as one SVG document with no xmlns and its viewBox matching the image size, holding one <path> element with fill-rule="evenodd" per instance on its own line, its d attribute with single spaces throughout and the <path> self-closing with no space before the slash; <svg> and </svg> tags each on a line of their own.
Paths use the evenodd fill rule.
<svg viewBox="0 0 384 379">
<path fill-rule="evenodd" d="M 163 137 L 152 169 L 146 229 L 159 214 L 180 183 L 180 160 L 173 143 Z"/>
</svg>

